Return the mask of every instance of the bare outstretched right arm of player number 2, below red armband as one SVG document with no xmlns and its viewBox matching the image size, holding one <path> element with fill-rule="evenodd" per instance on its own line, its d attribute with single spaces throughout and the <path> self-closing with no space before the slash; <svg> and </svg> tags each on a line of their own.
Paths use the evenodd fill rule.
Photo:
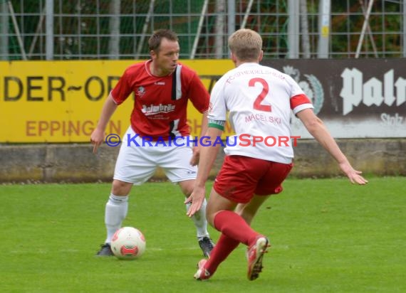
<svg viewBox="0 0 406 293">
<path fill-rule="evenodd" d="M 321 146 L 323 146 L 323 148 L 326 149 L 331 156 L 333 156 L 335 161 L 338 162 L 341 171 L 348 176 L 351 183 L 357 183 L 360 185 L 368 183 L 368 181 L 360 175 L 363 172 L 353 169 L 353 166 L 351 166 L 346 156 L 340 150 L 338 144 L 335 142 L 333 137 L 331 137 L 326 126 L 323 124 L 321 119 L 319 119 L 316 114 L 313 113 L 313 110 L 305 109 L 298 112 L 296 115 L 299 119 L 301 119 L 301 122 L 303 122 L 308 132 L 313 135 Z"/>
</svg>

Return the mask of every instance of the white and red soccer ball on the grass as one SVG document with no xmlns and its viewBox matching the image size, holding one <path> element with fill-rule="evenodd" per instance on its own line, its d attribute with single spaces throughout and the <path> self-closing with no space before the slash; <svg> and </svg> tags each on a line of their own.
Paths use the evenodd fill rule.
<svg viewBox="0 0 406 293">
<path fill-rule="evenodd" d="M 115 231 L 110 247 L 121 260 L 133 260 L 145 252 L 145 237 L 136 228 L 123 227 Z"/>
</svg>

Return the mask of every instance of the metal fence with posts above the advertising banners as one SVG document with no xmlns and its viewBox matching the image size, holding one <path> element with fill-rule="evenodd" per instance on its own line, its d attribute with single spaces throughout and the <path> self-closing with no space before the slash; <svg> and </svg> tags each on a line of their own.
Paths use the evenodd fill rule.
<svg viewBox="0 0 406 293">
<path fill-rule="evenodd" d="M 265 58 L 406 56 L 405 0 L 0 0 L 0 60 L 148 58 L 157 28 L 181 58 L 227 58 L 252 28 Z"/>
</svg>

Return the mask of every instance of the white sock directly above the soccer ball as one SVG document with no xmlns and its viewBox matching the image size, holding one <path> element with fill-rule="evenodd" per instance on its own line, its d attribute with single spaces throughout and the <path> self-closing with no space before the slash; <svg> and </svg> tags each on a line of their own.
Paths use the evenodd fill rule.
<svg viewBox="0 0 406 293">
<path fill-rule="evenodd" d="M 107 238 L 105 243 L 110 243 L 115 231 L 121 228 L 121 223 L 127 216 L 128 196 L 115 196 L 110 193 L 108 202 L 105 204 L 105 228 Z"/>
</svg>

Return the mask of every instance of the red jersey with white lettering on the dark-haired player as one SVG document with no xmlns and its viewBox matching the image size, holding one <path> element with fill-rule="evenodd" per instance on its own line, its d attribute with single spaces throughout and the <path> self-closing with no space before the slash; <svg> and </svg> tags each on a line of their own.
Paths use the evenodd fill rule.
<svg viewBox="0 0 406 293">
<path fill-rule="evenodd" d="M 203 113 L 209 108 L 209 92 L 187 66 L 178 63 L 174 73 L 158 77 L 150 72 L 151 61 L 128 67 L 111 95 L 120 105 L 134 93 L 130 121 L 140 136 L 154 140 L 188 136 L 187 102 Z"/>
</svg>

